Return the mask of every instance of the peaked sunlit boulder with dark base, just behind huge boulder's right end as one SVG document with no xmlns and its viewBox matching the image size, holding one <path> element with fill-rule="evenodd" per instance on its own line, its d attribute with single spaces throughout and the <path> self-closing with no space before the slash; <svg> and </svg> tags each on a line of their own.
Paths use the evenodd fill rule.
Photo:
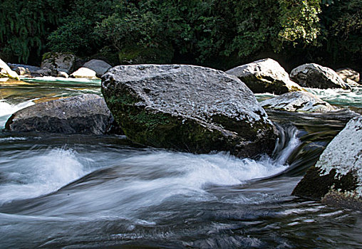
<svg viewBox="0 0 362 249">
<path fill-rule="evenodd" d="M 303 90 L 289 79 L 288 73 L 279 63 L 270 58 L 240 65 L 237 68 L 227 70 L 225 73 L 237 76 L 254 93 L 283 94 Z"/>
</svg>

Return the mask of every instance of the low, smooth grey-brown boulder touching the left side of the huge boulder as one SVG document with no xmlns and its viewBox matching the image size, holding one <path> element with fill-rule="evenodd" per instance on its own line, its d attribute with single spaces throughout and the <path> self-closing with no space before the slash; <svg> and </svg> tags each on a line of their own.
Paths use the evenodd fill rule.
<svg viewBox="0 0 362 249">
<path fill-rule="evenodd" d="M 104 134 L 112 122 L 103 97 L 85 94 L 26 107 L 15 112 L 5 128 L 14 132 Z"/>
</svg>

